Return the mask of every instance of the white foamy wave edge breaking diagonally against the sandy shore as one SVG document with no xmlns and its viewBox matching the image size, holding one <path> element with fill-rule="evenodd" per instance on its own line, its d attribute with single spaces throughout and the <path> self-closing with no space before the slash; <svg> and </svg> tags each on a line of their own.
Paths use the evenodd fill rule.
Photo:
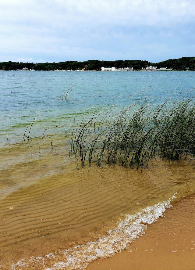
<svg viewBox="0 0 195 270">
<path fill-rule="evenodd" d="M 40 267 L 41 269 L 45 267 L 44 270 L 83 269 L 98 258 L 110 257 L 128 248 L 129 244 L 144 234 L 144 230 L 147 229 L 146 224 L 151 224 L 159 217 L 163 217 L 163 212 L 172 207 L 170 203 L 174 198 L 176 198 L 175 194 L 169 200 L 144 208 L 134 215 L 126 214 L 118 227 L 108 231 L 107 236 L 102 239 L 76 246 L 73 249 L 55 252 L 55 254 L 50 253 L 44 257 L 22 259 L 12 264 L 10 270 L 22 270 L 23 267 L 29 267 L 29 269 L 36 267 L 37 270 Z"/>
</svg>

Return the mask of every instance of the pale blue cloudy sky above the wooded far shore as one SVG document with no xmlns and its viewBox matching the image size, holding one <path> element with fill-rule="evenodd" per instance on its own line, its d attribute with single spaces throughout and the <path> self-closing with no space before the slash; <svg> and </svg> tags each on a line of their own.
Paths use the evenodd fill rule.
<svg viewBox="0 0 195 270">
<path fill-rule="evenodd" d="M 188 56 L 194 0 L 0 0 L 0 62 Z"/>
</svg>

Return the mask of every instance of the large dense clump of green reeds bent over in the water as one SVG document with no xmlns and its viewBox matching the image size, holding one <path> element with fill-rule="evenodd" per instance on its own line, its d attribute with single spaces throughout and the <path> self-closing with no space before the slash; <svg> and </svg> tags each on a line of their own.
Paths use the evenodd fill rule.
<svg viewBox="0 0 195 270">
<path fill-rule="evenodd" d="M 193 89 L 192 89 L 193 90 Z M 147 168 L 153 157 L 171 164 L 190 154 L 195 157 L 195 96 L 191 91 L 154 105 L 150 98 L 127 108 L 117 104 L 107 112 L 91 109 L 70 135 L 69 155 L 76 167 L 118 163 L 124 167 Z M 184 95 L 185 94 L 185 95 Z M 181 97 L 182 95 L 182 97 Z"/>
</svg>

